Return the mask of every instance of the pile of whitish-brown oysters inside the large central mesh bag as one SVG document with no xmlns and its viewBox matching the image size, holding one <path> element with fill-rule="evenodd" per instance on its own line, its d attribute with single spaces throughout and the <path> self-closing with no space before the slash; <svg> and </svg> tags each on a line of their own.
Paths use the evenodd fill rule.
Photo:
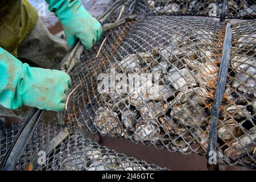
<svg viewBox="0 0 256 182">
<path fill-rule="evenodd" d="M 152 76 L 152 81 L 141 78 L 138 88 L 125 94 L 101 94 L 104 102 L 94 118 L 101 134 L 118 135 L 135 142 L 161 143 L 173 151 L 187 152 L 191 144 L 207 151 L 210 109 L 221 60 L 220 52 L 215 52 L 212 45 L 218 39 L 210 31 L 197 31 L 193 37 L 182 32 L 182 36 L 174 34 L 172 38 L 171 46 L 127 55 L 115 65 L 118 73 L 157 73 L 157 76 Z M 241 47 L 242 42 L 237 46 Z M 242 58 L 236 59 L 247 63 Z M 255 94 L 255 59 L 251 59 L 249 67 L 243 64 L 240 67 L 253 76 L 237 69 L 234 74 L 239 78 L 229 80 L 230 88 L 226 89 L 228 97 L 222 105 L 217 132 L 222 143 L 232 144 L 223 147 L 220 156 L 234 154 L 234 148 L 237 148 L 236 155 L 244 154 L 238 152 L 238 148 L 242 150 L 244 146 L 237 139 L 246 146 L 254 143 L 255 127 L 246 132 L 240 123 L 244 119 L 255 122 L 255 97 L 251 98 L 251 94 Z M 254 105 L 253 110 L 239 102 L 242 97 L 233 98 L 233 94 L 228 94 L 234 89 L 250 97 L 247 100 Z M 251 138 L 248 133 L 252 134 Z"/>
</svg>

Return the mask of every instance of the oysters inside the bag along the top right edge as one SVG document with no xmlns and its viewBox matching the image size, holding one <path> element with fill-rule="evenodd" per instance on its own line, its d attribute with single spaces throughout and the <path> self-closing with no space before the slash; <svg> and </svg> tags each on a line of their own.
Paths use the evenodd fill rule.
<svg viewBox="0 0 256 182">
<path fill-rule="evenodd" d="M 210 3 L 216 5 L 216 15 L 220 15 L 222 12 L 223 1 L 170 1 L 170 0 L 145 0 L 149 9 L 154 14 L 164 15 L 204 15 L 209 16 L 209 10 L 213 7 Z M 255 18 L 256 5 L 247 1 L 236 2 L 234 0 L 228 0 L 228 10 L 226 15 L 229 18 Z M 210 15 L 211 16 L 211 15 Z"/>
</svg>

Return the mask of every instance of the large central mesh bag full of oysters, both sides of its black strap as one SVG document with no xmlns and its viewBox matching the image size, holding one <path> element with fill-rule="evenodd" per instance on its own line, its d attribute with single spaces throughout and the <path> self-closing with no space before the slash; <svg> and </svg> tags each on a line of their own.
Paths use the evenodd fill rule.
<svg viewBox="0 0 256 182">
<path fill-rule="evenodd" d="M 232 30 L 218 162 L 254 168 L 255 20 L 234 24 Z M 72 71 L 67 123 L 169 151 L 207 154 L 224 37 L 225 23 L 185 16 L 145 16 L 115 28 L 100 56 L 101 43 L 84 52 Z M 117 85 L 135 75 L 136 89 L 112 92 L 112 74 Z M 104 78 L 110 86 L 99 92 Z"/>
</svg>

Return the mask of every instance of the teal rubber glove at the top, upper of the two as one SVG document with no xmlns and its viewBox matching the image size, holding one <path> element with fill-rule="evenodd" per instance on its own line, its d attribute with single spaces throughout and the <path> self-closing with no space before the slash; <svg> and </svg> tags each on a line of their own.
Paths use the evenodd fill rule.
<svg viewBox="0 0 256 182">
<path fill-rule="evenodd" d="M 49 11 L 59 17 L 69 46 L 79 38 L 85 49 L 90 49 L 101 39 L 100 22 L 84 9 L 81 0 L 46 0 L 46 2 L 49 4 Z"/>
</svg>

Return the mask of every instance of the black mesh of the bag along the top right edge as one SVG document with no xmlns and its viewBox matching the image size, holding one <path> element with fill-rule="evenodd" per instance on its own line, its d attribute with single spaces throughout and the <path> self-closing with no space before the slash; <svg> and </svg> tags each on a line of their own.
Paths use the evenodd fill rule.
<svg viewBox="0 0 256 182">
<path fill-rule="evenodd" d="M 223 0 L 212 1 L 177 1 L 177 0 L 142 0 L 137 10 L 147 15 L 195 15 L 220 18 Z M 228 0 L 226 18 L 253 19 L 256 16 L 255 1 Z"/>
</svg>

